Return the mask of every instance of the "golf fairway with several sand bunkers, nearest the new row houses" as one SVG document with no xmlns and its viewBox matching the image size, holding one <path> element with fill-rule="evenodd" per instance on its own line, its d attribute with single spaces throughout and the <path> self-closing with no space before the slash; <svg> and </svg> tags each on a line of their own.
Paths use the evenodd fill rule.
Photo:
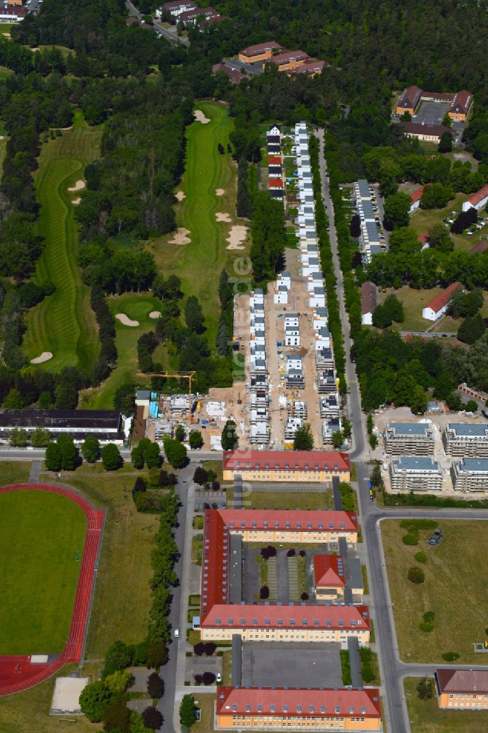
<svg viewBox="0 0 488 733">
<path fill-rule="evenodd" d="M 246 224 L 235 214 L 237 166 L 227 152 L 234 123 L 223 105 L 197 102 L 196 109 L 202 110 L 210 122 L 195 121 L 187 129 L 185 174 L 178 187 L 185 199 L 176 207 L 177 226 L 190 230 L 191 243 L 169 244 L 173 235 L 167 235 L 156 241 L 152 251 L 165 276 L 176 274 L 182 279 L 185 295 L 199 299 L 205 316 L 205 335 L 215 349 L 220 316 L 218 278 L 223 267 L 229 276 L 237 276 L 234 262 L 248 254 L 248 243 L 243 243 L 245 249 L 226 249 L 231 226 Z M 223 145 L 224 155 L 218 152 L 218 143 Z M 223 196 L 215 195 L 217 188 L 224 189 Z M 232 221 L 216 221 L 217 212 L 229 214 Z"/>
</svg>

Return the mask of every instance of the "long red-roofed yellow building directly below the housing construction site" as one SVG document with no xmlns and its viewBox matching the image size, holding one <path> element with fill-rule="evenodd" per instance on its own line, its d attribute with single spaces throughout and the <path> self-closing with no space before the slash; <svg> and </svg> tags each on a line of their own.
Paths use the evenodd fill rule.
<svg viewBox="0 0 488 733">
<path fill-rule="evenodd" d="M 339 451 L 226 451 L 222 459 L 223 479 L 232 481 L 332 482 L 350 480 L 350 458 Z"/>
</svg>

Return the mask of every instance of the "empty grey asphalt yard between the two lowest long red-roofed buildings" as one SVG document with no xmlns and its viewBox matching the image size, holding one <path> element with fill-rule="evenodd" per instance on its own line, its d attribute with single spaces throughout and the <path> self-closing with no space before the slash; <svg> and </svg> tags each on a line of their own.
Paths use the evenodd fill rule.
<svg viewBox="0 0 488 733">
<path fill-rule="evenodd" d="M 341 687 L 340 644 L 243 644 L 243 685 Z"/>
</svg>

